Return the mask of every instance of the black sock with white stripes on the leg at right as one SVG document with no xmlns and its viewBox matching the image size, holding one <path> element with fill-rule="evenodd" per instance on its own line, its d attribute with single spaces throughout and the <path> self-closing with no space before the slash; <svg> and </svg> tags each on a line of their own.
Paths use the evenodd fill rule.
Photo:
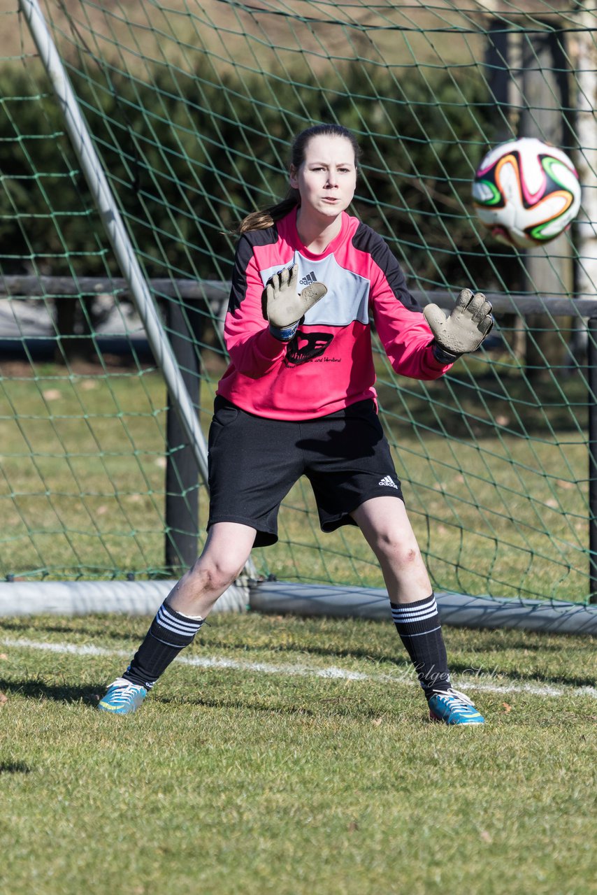
<svg viewBox="0 0 597 895">
<path fill-rule="evenodd" d="M 392 618 L 419 682 L 429 699 L 436 690 L 448 690 L 448 656 L 441 635 L 435 595 L 414 603 L 390 603 Z"/>
</svg>

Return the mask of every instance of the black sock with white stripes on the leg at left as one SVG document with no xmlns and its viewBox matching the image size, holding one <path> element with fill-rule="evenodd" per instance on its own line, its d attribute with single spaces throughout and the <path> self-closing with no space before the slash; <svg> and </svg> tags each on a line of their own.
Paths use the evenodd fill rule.
<svg viewBox="0 0 597 895">
<path fill-rule="evenodd" d="M 202 624 L 202 618 L 183 616 L 164 601 L 123 678 L 149 690 L 183 647 L 192 643 Z"/>
</svg>

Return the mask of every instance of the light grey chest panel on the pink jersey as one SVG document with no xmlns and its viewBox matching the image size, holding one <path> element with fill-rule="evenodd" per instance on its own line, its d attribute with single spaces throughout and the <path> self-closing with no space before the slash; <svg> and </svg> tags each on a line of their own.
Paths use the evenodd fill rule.
<svg viewBox="0 0 597 895">
<path fill-rule="evenodd" d="M 309 326 L 345 327 L 353 320 L 369 323 L 369 288 L 371 280 L 355 274 L 352 270 L 342 268 L 334 255 L 328 255 L 320 261 L 303 258 L 299 251 L 294 252 L 294 261 L 288 262 L 299 267 L 299 286 L 301 292 L 305 286 L 318 280 L 328 287 L 328 293 L 305 314 L 304 322 Z M 261 270 L 261 279 L 265 286 L 273 277 L 279 265 Z"/>
</svg>

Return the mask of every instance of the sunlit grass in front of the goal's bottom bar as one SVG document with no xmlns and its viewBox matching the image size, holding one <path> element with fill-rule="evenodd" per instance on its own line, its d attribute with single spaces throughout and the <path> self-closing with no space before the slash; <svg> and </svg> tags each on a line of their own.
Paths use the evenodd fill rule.
<svg viewBox="0 0 597 895">
<path fill-rule="evenodd" d="M 148 623 L 0 622 L 3 895 L 595 891 L 592 638 L 447 628 L 448 729 L 391 624 L 220 614 L 94 711 Z"/>
</svg>

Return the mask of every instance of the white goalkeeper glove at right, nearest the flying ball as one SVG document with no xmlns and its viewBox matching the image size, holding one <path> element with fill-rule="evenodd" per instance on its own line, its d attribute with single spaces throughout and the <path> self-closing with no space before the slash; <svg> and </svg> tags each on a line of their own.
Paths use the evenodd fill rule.
<svg viewBox="0 0 597 895">
<path fill-rule="evenodd" d="M 448 317 L 437 304 L 423 309 L 433 333 L 433 354 L 440 363 L 454 363 L 476 351 L 493 326 L 491 305 L 482 294 L 463 289 Z"/>
</svg>

